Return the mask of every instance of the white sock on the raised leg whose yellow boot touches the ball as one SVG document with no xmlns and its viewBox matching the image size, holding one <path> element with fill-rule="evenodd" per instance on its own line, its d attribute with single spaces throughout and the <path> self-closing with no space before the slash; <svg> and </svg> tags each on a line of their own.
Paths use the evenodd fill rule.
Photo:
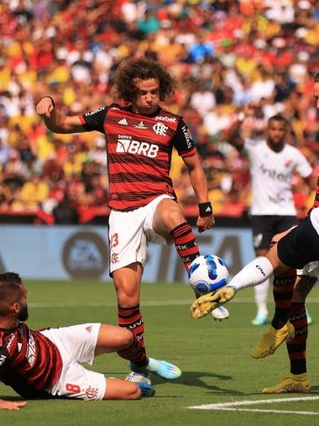
<svg viewBox="0 0 319 426">
<path fill-rule="evenodd" d="M 247 263 L 247 265 L 230 280 L 228 285 L 234 287 L 236 291 L 247 287 L 254 287 L 269 278 L 273 271 L 272 263 L 270 263 L 266 257 L 259 256 L 250 263 Z"/>
</svg>

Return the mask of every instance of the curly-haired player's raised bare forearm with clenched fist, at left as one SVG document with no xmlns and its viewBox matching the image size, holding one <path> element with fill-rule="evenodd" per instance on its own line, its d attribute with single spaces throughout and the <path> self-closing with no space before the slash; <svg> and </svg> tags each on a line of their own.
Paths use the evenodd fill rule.
<svg viewBox="0 0 319 426">
<path fill-rule="evenodd" d="M 45 96 L 35 106 L 37 113 L 43 117 L 47 129 L 54 133 L 79 133 L 86 131 L 79 116 L 66 116 L 55 108 L 52 97 Z"/>
</svg>

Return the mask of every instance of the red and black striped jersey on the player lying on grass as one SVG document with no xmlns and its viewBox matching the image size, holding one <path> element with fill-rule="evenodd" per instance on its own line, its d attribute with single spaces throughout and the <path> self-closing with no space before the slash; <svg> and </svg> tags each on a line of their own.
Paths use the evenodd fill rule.
<svg viewBox="0 0 319 426">
<path fill-rule="evenodd" d="M 23 398 L 36 398 L 60 377 L 62 359 L 54 343 L 20 322 L 0 329 L 0 380 Z"/>
</svg>

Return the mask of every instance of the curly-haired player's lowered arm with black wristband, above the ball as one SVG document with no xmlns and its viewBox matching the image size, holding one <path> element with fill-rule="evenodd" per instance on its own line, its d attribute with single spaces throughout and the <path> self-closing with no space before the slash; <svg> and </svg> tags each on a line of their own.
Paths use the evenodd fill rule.
<svg viewBox="0 0 319 426">
<path fill-rule="evenodd" d="M 213 209 L 211 208 L 211 203 L 208 199 L 206 176 L 203 171 L 201 159 L 199 158 L 198 153 L 191 155 L 190 157 L 184 157 L 183 160 L 187 169 L 189 170 L 191 186 L 193 187 L 196 194 L 198 204 L 203 204 L 203 206 L 207 205 L 207 211 L 202 212 L 202 214 L 198 216 L 196 222 L 198 232 L 203 232 L 206 231 L 206 229 L 210 229 L 215 224 Z"/>
</svg>

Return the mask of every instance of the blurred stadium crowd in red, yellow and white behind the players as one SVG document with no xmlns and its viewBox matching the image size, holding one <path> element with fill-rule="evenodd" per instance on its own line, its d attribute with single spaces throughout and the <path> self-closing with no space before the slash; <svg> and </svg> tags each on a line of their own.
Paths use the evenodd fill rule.
<svg viewBox="0 0 319 426">
<path fill-rule="evenodd" d="M 289 143 L 319 170 L 312 74 L 319 70 L 318 0 L 2 0 L 0 4 L 0 214 L 84 223 L 108 214 L 104 138 L 55 135 L 35 113 L 45 95 L 65 114 L 119 102 L 112 76 L 128 57 L 159 60 L 179 81 L 166 107 L 184 116 L 203 158 L 214 214 L 250 206 L 248 160 L 225 142 L 245 104 L 247 138 L 289 120 Z M 165 107 L 165 105 L 164 105 Z M 185 214 L 197 205 L 182 160 L 172 178 Z M 303 217 L 313 194 L 293 182 Z"/>
</svg>

